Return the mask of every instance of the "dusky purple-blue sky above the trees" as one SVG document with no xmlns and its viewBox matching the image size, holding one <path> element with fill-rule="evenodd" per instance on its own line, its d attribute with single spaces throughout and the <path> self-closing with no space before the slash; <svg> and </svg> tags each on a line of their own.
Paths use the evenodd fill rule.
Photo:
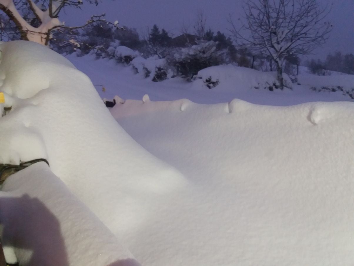
<svg viewBox="0 0 354 266">
<path fill-rule="evenodd" d="M 85 1 L 84 1 L 85 2 Z M 107 14 L 107 20 L 119 21 L 121 26 L 136 28 L 139 33 L 146 31 L 147 27 L 157 24 L 165 28 L 170 35 L 179 35 L 183 24 L 193 24 L 198 11 L 202 11 L 207 18 L 207 27 L 213 31 L 227 32 L 229 24 L 228 14 L 234 18 L 242 15 L 241 0 L 102 0 L 96 7 L 85 3 L 82 10 L 67 9 L 61 14 L 61 20 L 67 26 L 78 26 L 87 21 L 91 15 Z M 330 0 L 318 0 L 327 3 Z M 333 8 L 327 17 L 333 24 L 330 39 L 323 48 L 319 48 L 315 58 L 325 59 L 330 52 L 341 51 L 354 53 L 354 1 L 335 0 Z"/>
</svg>

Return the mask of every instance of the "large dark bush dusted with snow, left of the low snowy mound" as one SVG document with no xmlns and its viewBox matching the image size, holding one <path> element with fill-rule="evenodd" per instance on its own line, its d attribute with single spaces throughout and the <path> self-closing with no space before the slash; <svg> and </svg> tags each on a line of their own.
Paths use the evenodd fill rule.
<svg viewBox="0 0 354 266">
<path fill-rule="evenodd" d="M 224 53 L 217 51 L 216 45 L 215 41 L 199 41 L 197 45 L 176 49 L 169 63 L 179 76 L 190 81 L 198 71 L 225 62 Z"/>
</svg>

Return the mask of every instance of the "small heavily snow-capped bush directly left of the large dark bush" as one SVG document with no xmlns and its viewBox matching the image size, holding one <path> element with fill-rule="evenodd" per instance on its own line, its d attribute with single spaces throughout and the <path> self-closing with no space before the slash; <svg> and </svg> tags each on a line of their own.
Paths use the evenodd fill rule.
<svg viewBox="0 0 354 266">
<path fill-rule="evenodd" d="M 141 74 L 144 78 L 150 77 L 152 81 L 163 81 L 168 77 L 169 67 L 166 59 L 159 59 L 157 56 L 145 59 L 136 57 L 130 63 L 136 73 Z"/>
</svg>

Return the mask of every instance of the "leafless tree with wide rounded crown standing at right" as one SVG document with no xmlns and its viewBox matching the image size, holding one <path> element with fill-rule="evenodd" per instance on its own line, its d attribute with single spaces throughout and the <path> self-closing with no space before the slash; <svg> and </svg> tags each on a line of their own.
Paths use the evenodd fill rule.
<svg viewBox="0 0 354 266">
<path fill-rule="evenodd" d="M 284 88 L 282 65 L 286 56 L 310 54 L 325 43 L 332 25 L 324 21 L 330 12 L 316 0 L 249 0 L 244 2 L 245 22 L 230 32 L 235 41 L 275 62 L 280 89 Z M 245 35 L 249 33 L 249 35 Z"/>
</svg>

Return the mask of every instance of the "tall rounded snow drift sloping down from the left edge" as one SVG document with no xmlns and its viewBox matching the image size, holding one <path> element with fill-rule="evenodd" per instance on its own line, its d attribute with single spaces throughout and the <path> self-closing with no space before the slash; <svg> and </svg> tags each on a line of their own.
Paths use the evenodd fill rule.
<svg viewBox="0 0 354 266">
<path fill-rule="evenodd" d="M 51 170 L 111 231 L 135 231 L 152 202 L 183 187 L 182 175 L 114 120 L 90 79 L 29 41 L 0 44 L 0 162 L 47 158 Z M 125 244 L 125 239 L 122 239 Z"/>
</svg>

